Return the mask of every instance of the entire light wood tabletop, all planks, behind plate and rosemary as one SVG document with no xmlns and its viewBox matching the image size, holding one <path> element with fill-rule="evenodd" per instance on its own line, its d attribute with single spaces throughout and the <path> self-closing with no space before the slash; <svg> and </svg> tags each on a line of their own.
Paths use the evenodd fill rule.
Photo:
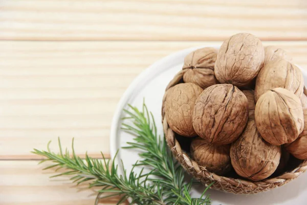
<svg viewBox="0 0 307 205">
<path fill-rule="evenodd" d="M 0 204 L 93 204 L 94 190 L 49 179 L 30 151 L 75 137 L 79 155 L 109 157 L 131 80 L 172 52 L 238 32 L 307 69 L 305 0 L 0 0 Z"/>
</svg>

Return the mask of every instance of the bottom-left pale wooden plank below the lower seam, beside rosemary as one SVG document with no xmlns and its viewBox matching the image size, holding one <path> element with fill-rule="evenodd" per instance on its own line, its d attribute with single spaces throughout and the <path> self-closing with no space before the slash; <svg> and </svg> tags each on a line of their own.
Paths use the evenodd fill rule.
<svg viewBox="0 0 307 205">
<path fill-rule="evenodd" d="M 41 171 L 38 161 L 0 160 L 1 205 L 85 205 L 94 204 L 96 191 L 87 185 L 75 186 L 68 177 L 50 179 L 54 172 Z M 119 198 L 100 200 L 99 204 L 116 204 Z"/>
</svg>

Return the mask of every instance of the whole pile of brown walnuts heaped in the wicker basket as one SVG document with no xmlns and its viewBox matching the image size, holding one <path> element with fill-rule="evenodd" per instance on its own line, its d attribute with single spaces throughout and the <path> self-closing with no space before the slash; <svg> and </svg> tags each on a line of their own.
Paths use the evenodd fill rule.
<svg viewBox="0 0 307 205">
<path fill-rule="evenodd" d="M 258 181 L 281 173 L 289 153 L 307 159 L 307 90 L 291 61 L 249 33 L 185 57 L 183 83 L 167 90 L 164 109 L 174 132 L 193 137 L 193 160 Z"/>
</svg>

